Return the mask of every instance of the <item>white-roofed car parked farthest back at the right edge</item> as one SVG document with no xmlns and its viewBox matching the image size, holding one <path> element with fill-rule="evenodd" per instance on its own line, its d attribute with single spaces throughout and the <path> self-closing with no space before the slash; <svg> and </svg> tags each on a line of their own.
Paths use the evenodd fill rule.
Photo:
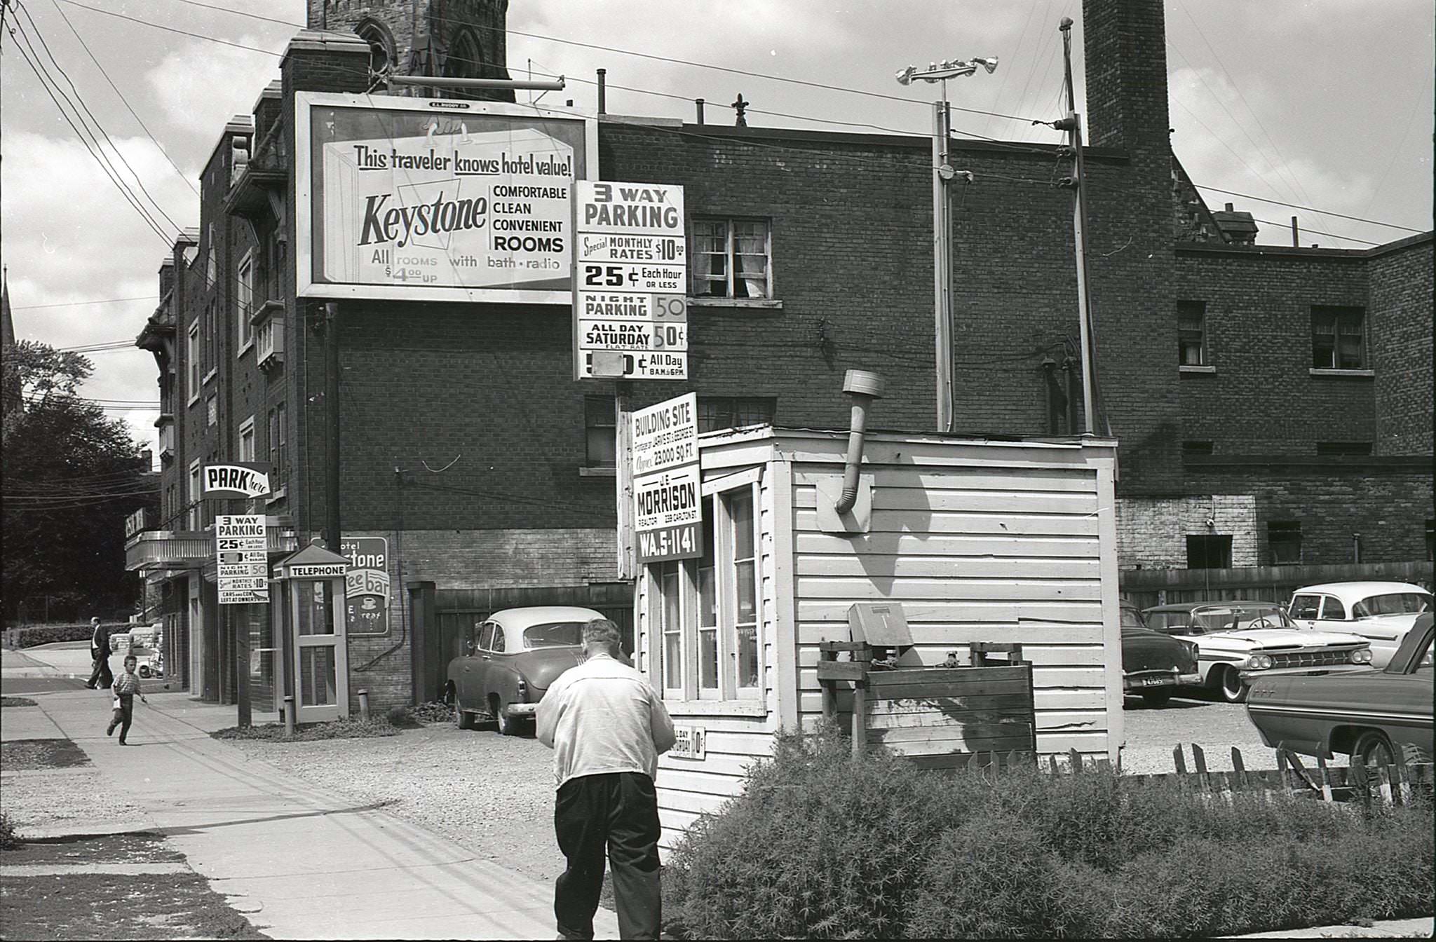
<svg viewBox="0 0 1436 942">
<path fill-rule="evenodd" d="M 1404 582 L 1331 582 L 1297 589 L 1287 613 L 1297 628 L 1351 632 L 1371 642 L 1371 665 L 1384 668 L 1432 593 Z"/>
</svg>

